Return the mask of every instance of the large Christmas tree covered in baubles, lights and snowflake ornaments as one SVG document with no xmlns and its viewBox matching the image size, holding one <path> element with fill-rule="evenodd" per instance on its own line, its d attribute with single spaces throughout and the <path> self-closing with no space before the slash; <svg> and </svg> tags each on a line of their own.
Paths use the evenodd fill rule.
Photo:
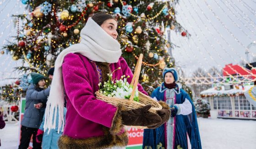
<svg viewBox="0 0 256 149">
<path fill-rule="evenodd" d="M 6 50 L 6 53 L 12 55 L 13 60 L 22 59 L 29 64 L 29 67 L 24 65 L 17 68 L 23 71 L 24 75 L 30 72 L 46 75 L 62 50 L 79 43 L 80 30 L 85 26 L 88 17 L 96 12 L 106 12 L 117 20 L 122 56 L 132 70 L 139 54 L 144 54 L 139 82 L 145 90 L 151 92 L 163 81 L 162 70 L 165 67 L 175 67 L 174 59 L 169 54 L 173 46 L 166 40 L 166 30 L 175 30 L 181 33 L 181 36 L 188 36 L 187 31 L 176 21 L 177 0 L 21 2 L 27 5 L 27 14 L 13 16 L 16 20 L 16 40 L 4 45 L 1 53 Z M 185 90 L 188 91 L 186 88 L 185 86 Z M 5 87 L 4 90 L 8 92 L 12 89 Z M 5 98 L 12 98 L 9 95 L 5 94 Z"/>
</svg>

